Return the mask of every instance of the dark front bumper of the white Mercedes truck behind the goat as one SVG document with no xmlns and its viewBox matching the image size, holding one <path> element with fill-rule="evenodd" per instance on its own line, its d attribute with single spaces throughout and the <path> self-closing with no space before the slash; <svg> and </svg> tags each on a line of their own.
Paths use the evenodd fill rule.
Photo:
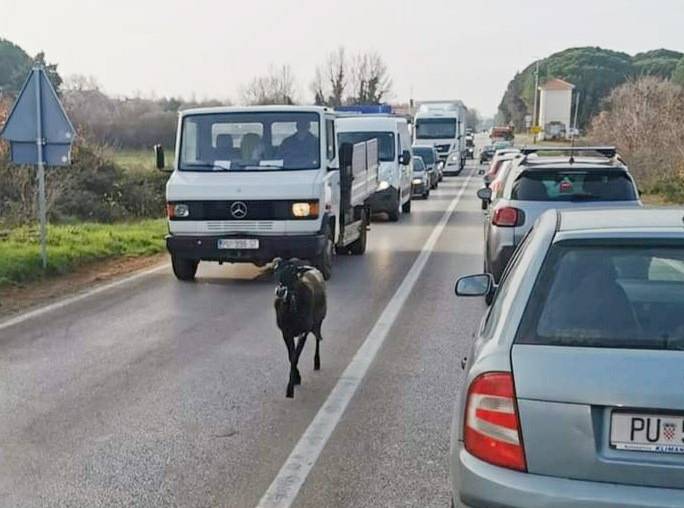
<svg viewBox="0 0 684 508">
<path fill-rule="evenodd" d="M 219 249 L 224 238 L 256 238 L 259 248 L 254 250 Z M 232 263 L 269 263 L 276 257 L 311 260 L 325 248 L 326 237 L 321 232 L 312 235 L 256 236 L 249 234 L 217 236 L 168 235 L 166 248 L 171 255 L 198 261 L 228 261 Z"/>
</svg>

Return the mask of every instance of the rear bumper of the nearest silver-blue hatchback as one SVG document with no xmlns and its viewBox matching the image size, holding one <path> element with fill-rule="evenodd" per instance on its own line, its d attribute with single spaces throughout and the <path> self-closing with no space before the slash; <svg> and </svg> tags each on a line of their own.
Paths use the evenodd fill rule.
<svg viewBox="0 0 684 508">
<path fill-rule="evenodd" d="M 483 462 L 458 443 L 452 452 L 457 507 L 675 508 L 684 490 L 589 482 L 521 473 Z"/>
</svg>

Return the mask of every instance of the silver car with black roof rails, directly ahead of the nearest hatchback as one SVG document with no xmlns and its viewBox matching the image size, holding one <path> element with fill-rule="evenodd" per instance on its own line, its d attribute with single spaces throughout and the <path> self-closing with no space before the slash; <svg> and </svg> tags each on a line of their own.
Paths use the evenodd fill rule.
<svg viewBox="0 0 684 508">
<path fill-rule="evenodd" d="M 627 166 L 611 147 L 523 148 L 513 159 L 499 199 L 482 188 L 485 213 L 484 270 L 498 281 L 534 221 L 553 208 L 641 206 Z M 543 152 L 554 153 L 542 156 Z M 576 155 L 579 154 L 579 155 Z"/>
</svg>

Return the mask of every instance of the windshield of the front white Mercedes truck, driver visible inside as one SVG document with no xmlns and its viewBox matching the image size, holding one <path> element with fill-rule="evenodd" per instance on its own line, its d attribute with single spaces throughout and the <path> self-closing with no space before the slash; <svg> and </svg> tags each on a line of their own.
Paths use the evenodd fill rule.
<svg viewBox="0 0 684 508">
<path fill-rule="evenodd" d="M 320 167 L 316 113 L 244 112 L 188 115 L 181 171 L 273 171 Z"/>
</svg>

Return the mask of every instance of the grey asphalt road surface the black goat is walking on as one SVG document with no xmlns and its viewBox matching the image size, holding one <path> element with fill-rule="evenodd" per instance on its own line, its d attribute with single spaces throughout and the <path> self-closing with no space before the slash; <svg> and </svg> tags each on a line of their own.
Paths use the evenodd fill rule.
<svg viewBox="0 0 684 508">
<path fill-rule="evenodd" d="M 307 344 L 295 399 L 271 274 L 160 271 L 0 329 L 0 506 L 254 507 L 475 171 L 447 177 L 328 284 L 322 370 Z M 293 506 L 448 506 L 448 429 L 484 311 L 457 299 L 482 268 L 469 180 Z"/>
</svg>

